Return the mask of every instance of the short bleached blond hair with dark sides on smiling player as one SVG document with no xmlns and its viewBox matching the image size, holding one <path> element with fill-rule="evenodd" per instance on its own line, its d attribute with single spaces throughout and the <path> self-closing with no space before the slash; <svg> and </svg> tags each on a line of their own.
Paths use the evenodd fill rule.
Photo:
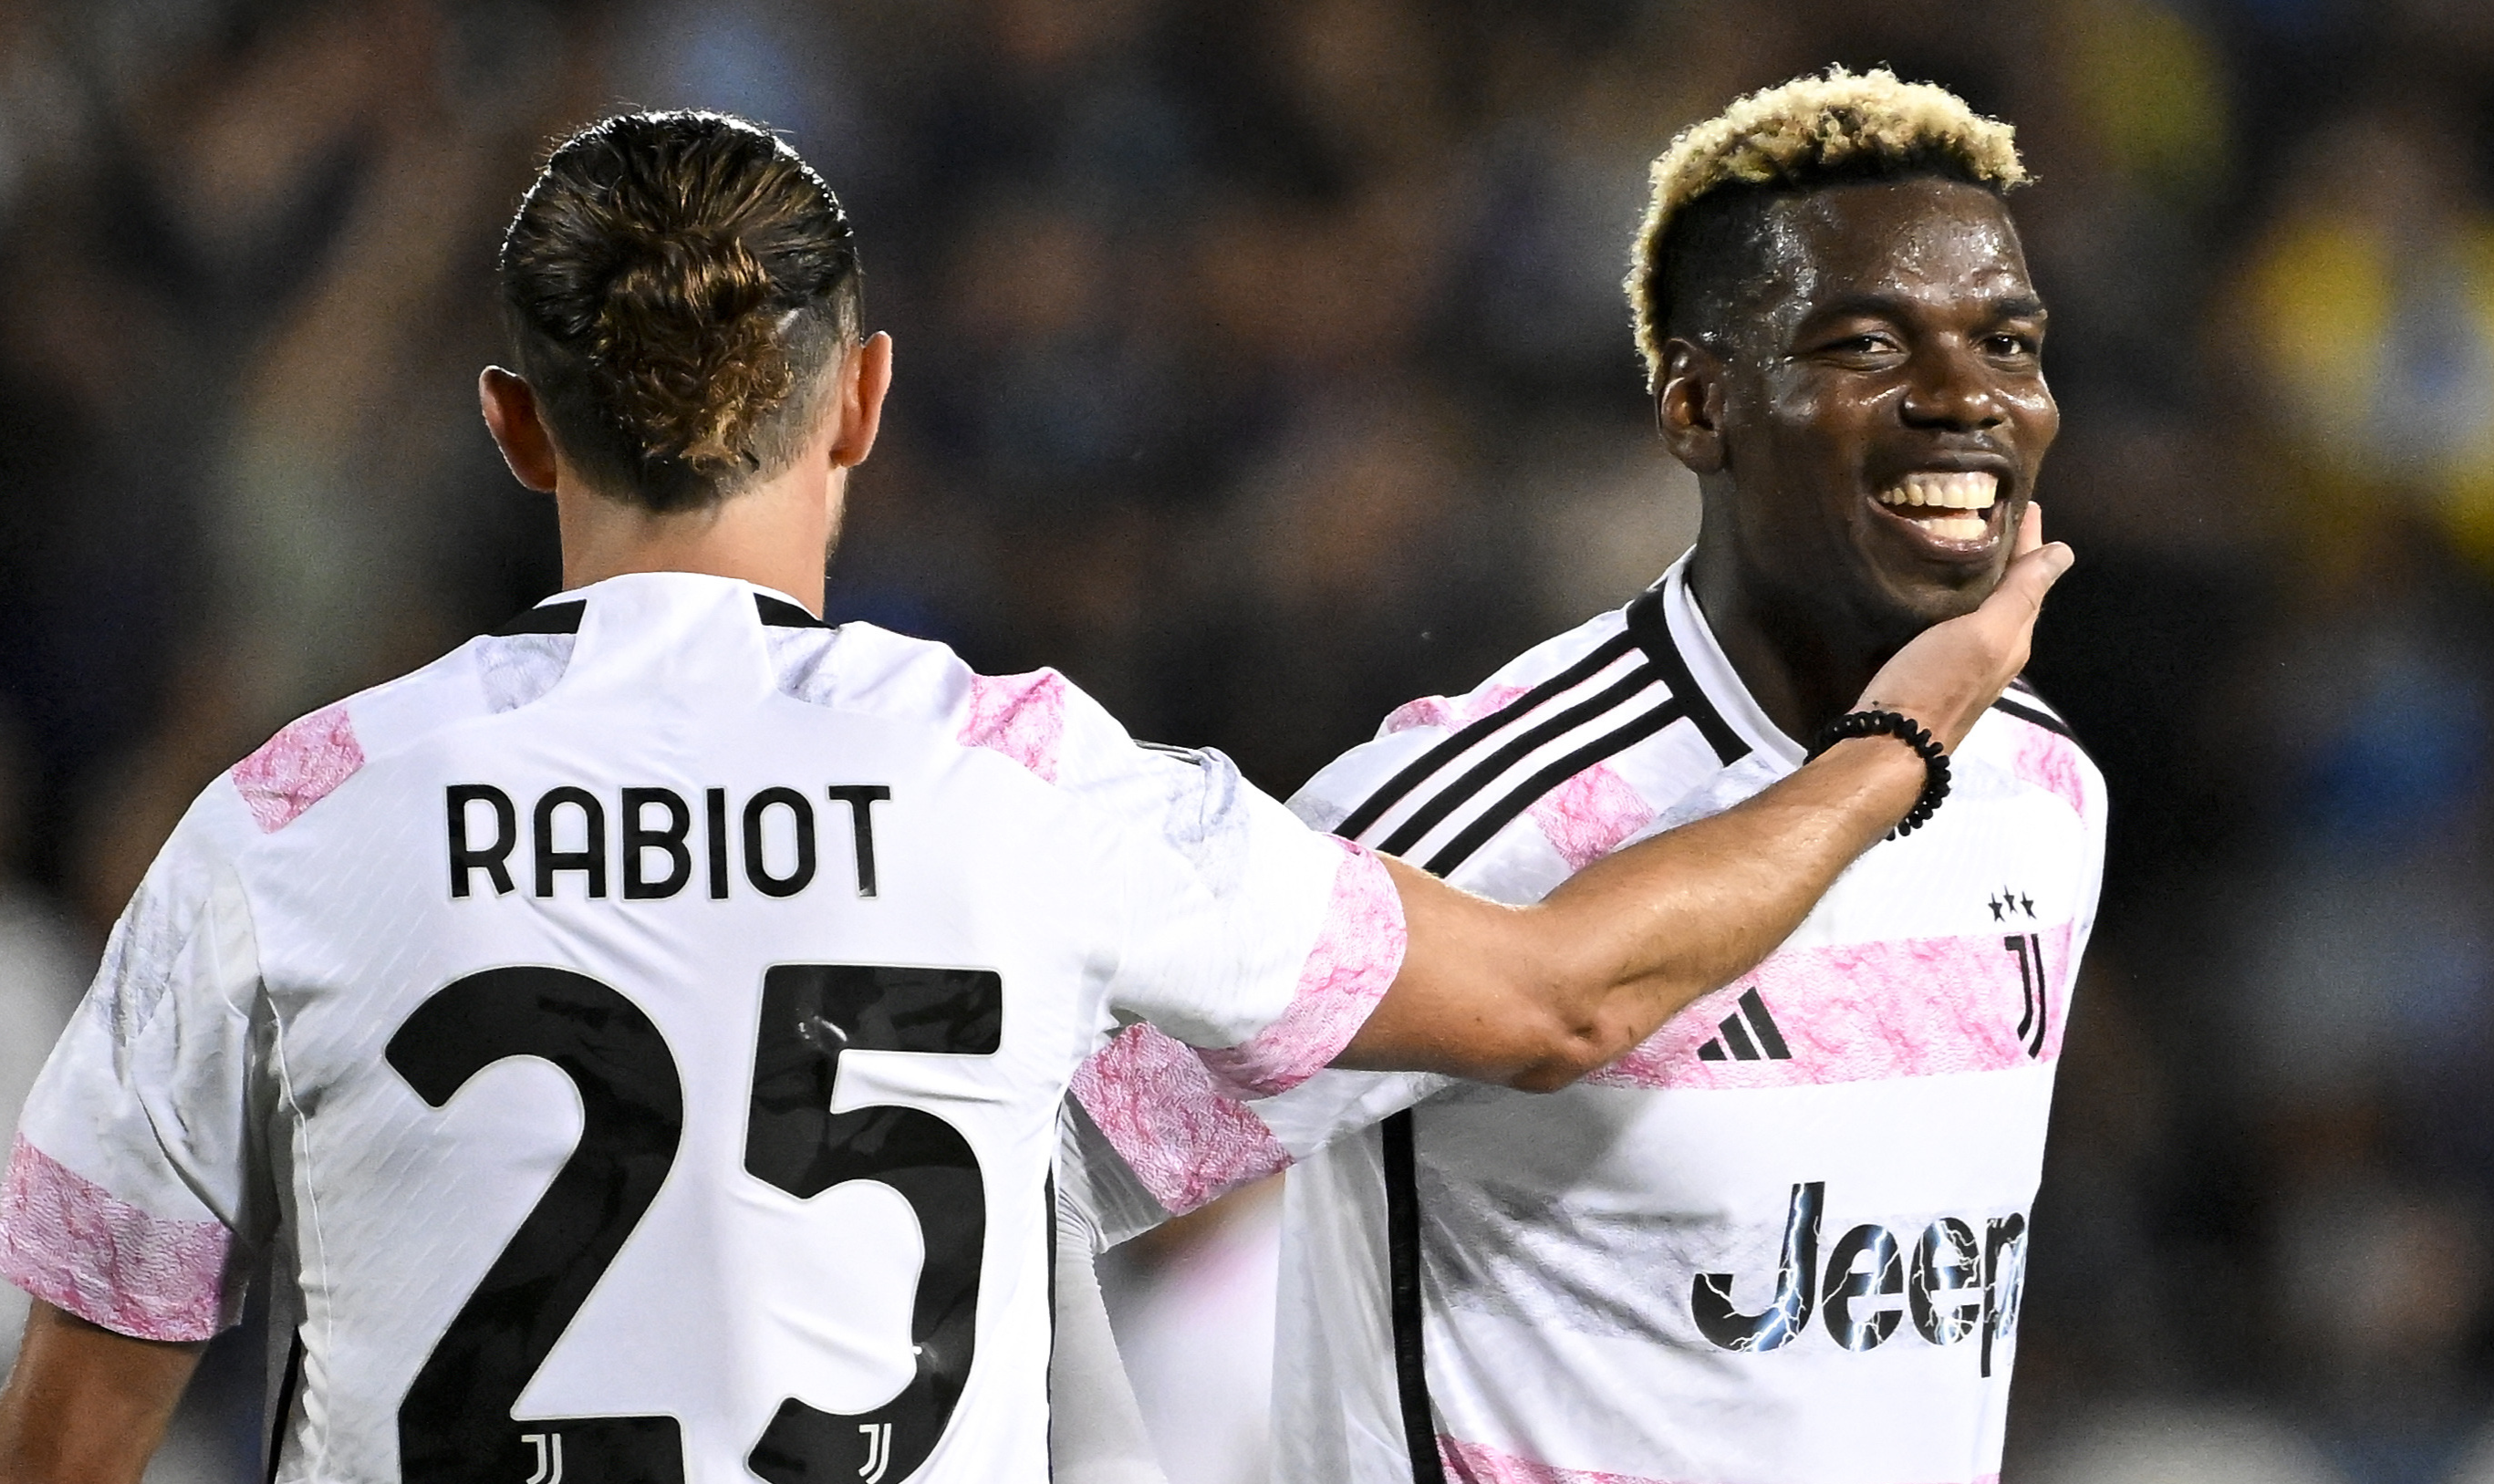
<svg viewBox="0 0 2494 1484">
<path fill-rule="evenodd" d="M 1885 67 L 1793 77 L 1681 130 L 1654 162 L 1654 197 L 1626 282 L 1646 387 L 1663 372 L 1671 312 L 1661 302 L 1663 254 L 1688 207 L 1733 187 L 1811 190 L 1888 175 L 1948 175 L 1993 190 L 2028 182 L 2018 130 L 1935 82 L 1903 82 Z"/>
</svg>

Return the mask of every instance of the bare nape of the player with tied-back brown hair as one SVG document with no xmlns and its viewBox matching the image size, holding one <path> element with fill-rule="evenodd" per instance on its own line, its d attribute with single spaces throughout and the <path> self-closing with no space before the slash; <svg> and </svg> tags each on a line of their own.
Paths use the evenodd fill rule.
<svg viewBox="0 0 2494 1484">
<path fill-rule="evenodd" d="M 801 459 L 786 474 L 698 511 L 656 514 L 556 481 L 564 586 L 631 571 L 736 576 L 823 614 L 823 564 L 840 534 L 848 471 Z"/>
</svg>

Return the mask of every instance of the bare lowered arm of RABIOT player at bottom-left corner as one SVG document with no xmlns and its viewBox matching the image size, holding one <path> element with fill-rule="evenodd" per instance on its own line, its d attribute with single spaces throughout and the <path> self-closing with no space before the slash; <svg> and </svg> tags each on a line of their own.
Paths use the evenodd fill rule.
<svg viewBox="0 0 2494 1484">
<path fill-rule="evenodd" d="M 202 1349 L 115 1334 L 35 1299 L 0 1389 L 0 1479 L 137 1484 Z"/>
</svg>

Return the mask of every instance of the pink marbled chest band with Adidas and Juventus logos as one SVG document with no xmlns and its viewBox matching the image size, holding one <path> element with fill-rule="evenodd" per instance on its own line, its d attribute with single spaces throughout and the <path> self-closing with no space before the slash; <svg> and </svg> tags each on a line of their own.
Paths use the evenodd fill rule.
<svg viewBox="0 0 2494 1484">
<path fill-rule="evenodd" d="M 2015 918 L 2003 923 L 2003 933 L 1776 953 L 1586 1080 L 1611 1087 L 1806 1087 L 2050 1062 L 2060 1058 L 2070 1003 L 2070 925 L 2013 928 Z M 1748 993 L 1766 1005 L 1781 1055 L 1743 1003 Z M 1701 1055 L 1708 1043 L 1721 1060 Z M 1726 1043 L 1738 1050 L 1726 1050 Z"/>
</svg>

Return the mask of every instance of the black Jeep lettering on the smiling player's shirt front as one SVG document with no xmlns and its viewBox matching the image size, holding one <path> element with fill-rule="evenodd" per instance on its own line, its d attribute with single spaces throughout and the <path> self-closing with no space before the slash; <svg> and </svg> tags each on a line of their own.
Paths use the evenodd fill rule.
<svg viewBox="0 0 2494 1484">
<path fill-rule="evenodd" d="M 1818 1217 L 1826 1180 L 1793 1187 L 1783 1217 L 1783 1255 L 1776 1260 L 1776 1297 L 1743 1314 L 1731 1304 L 1731 1272 L 1701 1272 L 1688 1289 L 1688 1312 L 1723 1349 L 1781 1349 L 1821 1314 L 1846 1349 L 1878 1349 L 1913 1317 L 1913 1332 L 1930 1344 L 1955 1344 L 1983 1334 L 1983 1374 L 1993 1374 L 1993 1342 L 2018 1332 L 2025 1292 L 2025 1215 L 1983 1222 L 1975 1235 L 1963 1217 L 1938 1217 L 1913 1237 L 1908 1252 L 1888 1227 L 1861 1225 L 1818 1265 Z M 1900 1302 L 1898 1302 L 1900 1299 Z"/>
</svg>

